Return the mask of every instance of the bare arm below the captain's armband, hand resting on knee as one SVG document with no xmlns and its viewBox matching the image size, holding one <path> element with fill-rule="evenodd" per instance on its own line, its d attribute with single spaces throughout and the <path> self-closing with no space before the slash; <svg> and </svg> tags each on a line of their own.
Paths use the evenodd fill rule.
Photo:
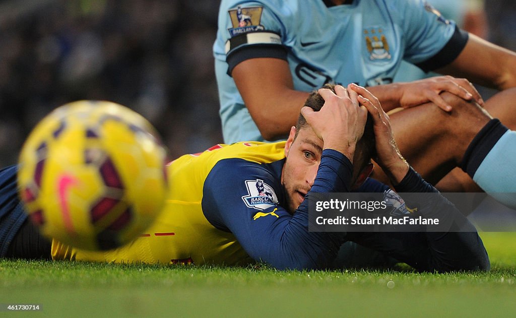
<svg viewBox="0 0 516 318">
<path fill-rule="evenodd" d="M 253 121 L 266 140 L 288 135 L 296 124 L 309 93 L 294 90 L 288 63 L 278 58 L 253 58 L 240 62 L 232 71 L 235 84 Z M 463 79 L 441 76 L 412 83 L 395 83 L 370 87 L 388 112 L 397 107 L 413 107 L 433 101 L 441 108 L 450 107 L 439 96 L 447 90 L 463 99 L 481 98 Z M 468 95 L 469 94 L 469 95 Z M 472 95 L 473 94 L 473 95 Z M 450 109 L 445 109 L 450 110 Z"/>
</svg>

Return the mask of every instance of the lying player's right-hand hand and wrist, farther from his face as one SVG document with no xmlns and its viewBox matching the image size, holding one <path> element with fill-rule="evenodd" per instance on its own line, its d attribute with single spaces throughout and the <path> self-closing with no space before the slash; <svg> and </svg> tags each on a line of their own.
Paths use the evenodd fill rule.
<svg viewBox="0 0 516 318">
<path fill-rule="evenodd" d="M 389 115 L 384 112 L 378 99 L 364 87 L 350 84 L 349 91 L 359 94 L 359 103 L 365 106 L 373 119 L 377 153 L 375 161 L 389 175 L 391 181 L 399 183 L 407 174 L 409 165 L 396 145 Z"/>
</svg>

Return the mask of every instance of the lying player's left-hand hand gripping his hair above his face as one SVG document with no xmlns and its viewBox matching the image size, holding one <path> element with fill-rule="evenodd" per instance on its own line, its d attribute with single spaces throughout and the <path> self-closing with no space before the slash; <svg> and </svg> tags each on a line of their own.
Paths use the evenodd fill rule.
<svg viewBox="0 0 516 318">
<path fill-rule="evenodd" d="M 364 133 L 367 110 L 360 106 L 356 92 L 341 85 L 335 85 L 335 93 L 327 88 L 318 92 L 325 100 L 319 112 L 305 106 L 301 113 L 324 141 L 324 149 L 340 151 L 352 161 L 357 141 Z"/>
</svg>

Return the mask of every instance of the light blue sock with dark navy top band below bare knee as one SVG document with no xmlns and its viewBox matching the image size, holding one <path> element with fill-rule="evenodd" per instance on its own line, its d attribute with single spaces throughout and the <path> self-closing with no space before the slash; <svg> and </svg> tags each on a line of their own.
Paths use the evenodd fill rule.
<svg viewBox="0 0 516 318">
<path fill-rule="evenodd" d="M 461 168 L 486 193 L 516 209 L 516 132 L 492 119 L 473 138 Z"/>
</svg>

